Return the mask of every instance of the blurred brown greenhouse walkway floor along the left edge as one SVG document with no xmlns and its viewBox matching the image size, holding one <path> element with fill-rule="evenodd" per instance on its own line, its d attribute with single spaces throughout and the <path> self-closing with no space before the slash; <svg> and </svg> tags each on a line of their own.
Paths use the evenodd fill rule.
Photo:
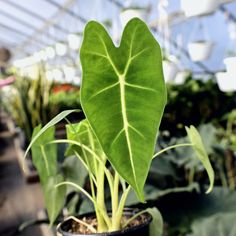
<svg viewBox="0 0 236 236">
<path fill-rule="evenodd" d="M 37 217 L 43 198 L 39 184 L 27 184 L 22 175 L 13 134 L 4 127 L 7 119 L 0 116 L 0 235 L 42 236 L 38 226 L 16 231 L 20 224 Z"/>
</svg>

